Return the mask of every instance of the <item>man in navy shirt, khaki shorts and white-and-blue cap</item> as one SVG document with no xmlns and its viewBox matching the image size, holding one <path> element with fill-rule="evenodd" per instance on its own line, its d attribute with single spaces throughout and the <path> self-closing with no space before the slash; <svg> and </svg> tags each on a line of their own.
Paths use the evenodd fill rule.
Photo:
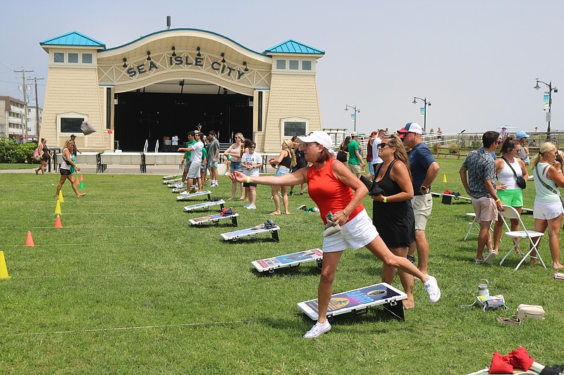
<svg viewBox="0 0 564 375">
<path fill-rule="evenodd" d="M 421 126 L 415 122 L 407 122 L 405 127 L 398 130 L 403 135 L 403 143 L 411 148 L 409 160 L 413 192 L 415 196 L 411 200 L 413 214 L 415 215 L 415 242 L 411 243 L 407 259 L 415 260 L 415 247 L 417 246 L 417 268 L 427 274 L 429 262 L 429 242 L 425 236 L 427 220 L 433 209 L 433 198 L 431 197 L 431 184 L 436 175 L 439 174 L 439 163 L 436 162 L 431 151 L 423 143 Z"/>
</svg>

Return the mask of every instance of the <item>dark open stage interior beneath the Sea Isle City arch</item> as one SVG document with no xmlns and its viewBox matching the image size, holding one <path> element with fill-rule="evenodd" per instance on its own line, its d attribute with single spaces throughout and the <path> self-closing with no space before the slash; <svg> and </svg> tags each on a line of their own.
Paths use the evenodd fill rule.
<svg viewBox="0 0 564 375">
<path fill-rule="evenodd" d="M 127 92 L 116 95 L 114 106 L 115 140 L 123 151 L 142 151 L 145 139 L 149 139 L 149 151 L 159 140 L 159 151 L 171 151 L 164 147 L 165 136 L 178 136 L 178 144 L 184 146 L 186 134 L 202 125 L 207 134 L 214 130 L 219 141 L 231 141 L 237 132 L 252 134 L 252 107 L 249 96 L 240 94 L 162 94 Z"/>
</svg>

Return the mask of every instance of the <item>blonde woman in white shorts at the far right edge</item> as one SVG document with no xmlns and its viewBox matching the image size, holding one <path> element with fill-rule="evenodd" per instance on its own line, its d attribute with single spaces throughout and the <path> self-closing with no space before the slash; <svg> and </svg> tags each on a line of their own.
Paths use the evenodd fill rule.
<svg viewBox="0 0 564 375">
<path fill-rule="evenodd" d="M 560 234 L 560 227 L 562 227 L 564 209 L 562 202 L 560 202 L 558 188 L 564 187 L 564 177 L 562 175 L 562 164 L 556 160 L 557 153 L 558 149 L 555 144 L 551 142 L 541 144 L 539 153 L 531 159 L 531 169 L 534 175 L 534 189 L 537 191 L 533 207 L 534 230 L 544 233 L 548 228 L 552 267 L 561 269 L 564 266 L 560 263 L 558 234 Z M 544 186 L 545 184 L 549 187 Z M 537 240 L 533 239 L 533 241 Z M 533 252 L 531 255 L 537 256 L 537 253 Z M 531 260 L 532 265 L 538 263 L 538 260 Z"/>
</svg>

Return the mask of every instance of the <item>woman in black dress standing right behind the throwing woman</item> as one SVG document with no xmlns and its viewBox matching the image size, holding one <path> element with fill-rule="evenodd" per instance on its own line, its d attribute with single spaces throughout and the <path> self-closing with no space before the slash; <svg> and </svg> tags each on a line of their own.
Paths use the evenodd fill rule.
<svg viewBox="0 0 564 375">
<path fill-rule="evenodd" d="M 411 174 L 407 167 L 407 153 L 402 141 L 393 134 L 385 138 L 378 146 L 379 156 L 384 160 L 374 170 L 374 181 L 384 193 L 372 196 L 372 222 L 374 227 L 390 248 L 391 252 L 407 258 L 410 243 L 415 241 L 415 217 L 411 206 L 413 186 Z M 382 280 L 388 284 L 393 282 L 396 269 L 382 266 Z M 400 280 L 407 299 L 403 301 L 405 308 L 415 307 L 413 300 L 413 277 L 400 271 Z"/>
</svg>

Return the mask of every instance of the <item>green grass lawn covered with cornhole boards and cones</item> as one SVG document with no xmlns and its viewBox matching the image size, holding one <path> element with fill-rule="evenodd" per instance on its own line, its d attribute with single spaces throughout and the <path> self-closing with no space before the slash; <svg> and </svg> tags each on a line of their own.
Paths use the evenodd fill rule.
<svg viewBox="0 0 564 375">
<path fill-rule="evenodd" d="M 462 192 L 462 160 L 439 163 L 433 190 Z M 239 227 L 274 218 L 280 243 L 269 236 L 225 243 L 219 234 L 233 227 L 190 227 L 188 218 L 201 212 L 183 212 L 188 203 L 146 175 L 87 174 L 80 199 L 65 184 L 63 228 L 55 229 L 58 179 L 1 175 L 0 250 L 11 275 L 0 280 L 3 374 L 467 374 L 488 366 L 493 352 L 520 345 L 537 362 L 562 362 L 564 283 L 551 269 L 513 272 L 516 257 L 503 266 L 474 265 L 475 237 L 462 241 L 470 204 L 434 201 L 427 236 L 439 303 L 431 305 L 417 283 L 417 307 L 405 312 L 405 322 L 376 307 L 337 317 L 331 332 L 306 340 L 312 322 L 296 303 L 316 297 L 319 270 L 309 263 L 263 276 L 250 261 L 321 246 L 319 216 L 296 210 L 312 205 L 307 196 L 290 197 L 293 215 L 271 217 L 270 189 L 259 186 L 258 210 L 233 203 Z M 227 177 L 220 184 L 213 195 L 227 198 Z M 533 199 L 529 183 L 525 206 Z M 372 215 L 368 198 L 364 204 Z M 532 226 L 532 217 L 525 223 Z M 28 230 L 35 248 L 23 246 Z M 546 240 L 541 251 L 550 265 Z M 334 291 L 377 283 L 380 274 L 381 262 L 367 250 L 346 251 Z M 460 307 L 472 303 L 480 278 L 489 279 L 491 293 L 505 295 L 509 310 Z M 400 288 L 397 278 L 394 285 Z M 546 319 L 496 322 L 520 303 L 543 305 Z M 154 327 L 112 330 L 146 326 Z M 106 330 L 88 331 L 96 329 Z M 54 333 L 60 331 L 70 332 Z"/>
</svg>

